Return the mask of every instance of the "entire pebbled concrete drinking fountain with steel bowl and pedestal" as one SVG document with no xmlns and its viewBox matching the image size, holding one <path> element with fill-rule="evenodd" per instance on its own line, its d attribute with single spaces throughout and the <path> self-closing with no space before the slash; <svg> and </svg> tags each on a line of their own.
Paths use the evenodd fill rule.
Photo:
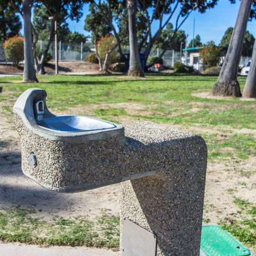
<svg viewBox="0 0 256 256">
<path fill-rule="evenodd" d="M 199 255 L 207 159 L 201 137 L 55 116 L 42 89 L 22 93 L 13 112 L 22 171 L 44 188 L 74 193 L 121 182 L 121 255 Z"/>
</svg>

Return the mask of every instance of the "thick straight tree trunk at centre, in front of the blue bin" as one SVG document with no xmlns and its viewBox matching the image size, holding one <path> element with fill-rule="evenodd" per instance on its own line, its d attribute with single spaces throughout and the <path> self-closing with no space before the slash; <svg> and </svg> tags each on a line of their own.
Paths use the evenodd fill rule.
<svg viewBox="0 0 256 256">
<path fill-rule="evenodd" d="M 129 44 L 130 44 L 130 61 L 128 76 L 144 77 L 141 68 L 140 55 L 137 44 L 137 30 L 136 30 L 136 0 L 127 0 L 128 19 L 129 19 Z"/>
</svg>

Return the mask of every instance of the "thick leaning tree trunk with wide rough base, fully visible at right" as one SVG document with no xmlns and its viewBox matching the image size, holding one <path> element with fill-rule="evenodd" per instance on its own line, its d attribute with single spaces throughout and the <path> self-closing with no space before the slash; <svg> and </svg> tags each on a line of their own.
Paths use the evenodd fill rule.
<svg viewBox="0 0 256 256">
<path fill-rule="evenodd" d="M 251 11 L 252 0 L 242 0 L 235 28 L 230 39 L 225 61 L 220 71 L 218 82 L 212 89 L 213 95 L 241 97 L 237 81 L 238 65 L 242 54 L 243 39 Z"/>
</svg>

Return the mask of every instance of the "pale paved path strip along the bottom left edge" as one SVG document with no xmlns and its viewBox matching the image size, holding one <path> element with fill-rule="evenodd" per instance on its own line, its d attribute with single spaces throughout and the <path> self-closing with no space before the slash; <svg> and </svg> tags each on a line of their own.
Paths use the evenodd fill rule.
<svg viewBox="0 0 256 256">
<path fill-rule="evenodd" d="M 0 244 L 1 256 L 118 256 L 119 252 L 85 247 L 46 247 Z"/>
</svg>

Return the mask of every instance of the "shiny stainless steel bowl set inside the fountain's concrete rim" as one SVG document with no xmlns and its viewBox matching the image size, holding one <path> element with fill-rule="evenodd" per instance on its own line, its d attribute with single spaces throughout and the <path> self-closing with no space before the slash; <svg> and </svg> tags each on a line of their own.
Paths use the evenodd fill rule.
<svg viewBox="0 0 256 256">
<path fill-rule="evenodd" d="M 50 116 L 37 121 L 39 127 L 59 132 L 86 132 L 113 129 L 115 124 L 86 116 Z"/>
</svg>

